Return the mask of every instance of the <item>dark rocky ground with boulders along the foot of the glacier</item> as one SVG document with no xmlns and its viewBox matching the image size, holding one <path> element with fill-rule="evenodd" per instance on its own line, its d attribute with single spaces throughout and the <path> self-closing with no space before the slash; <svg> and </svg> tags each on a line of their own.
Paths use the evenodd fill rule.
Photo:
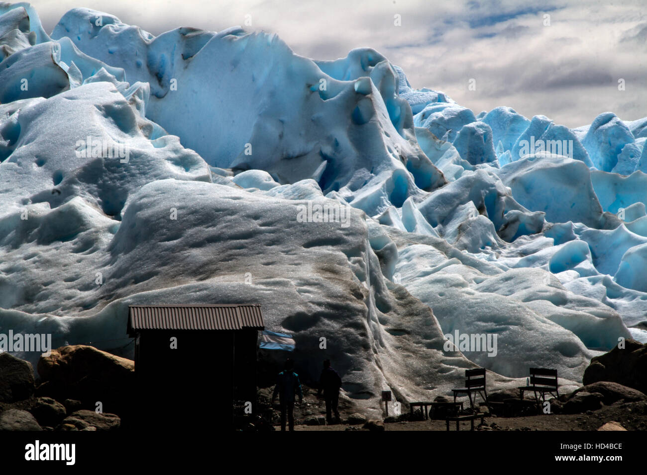
<svg viewBox="0 0 647 475">
<path fill-rule="evenodd" d="M 520 401 L 516 390 L 488 393 L 490 407 L 481 403 L 483 425 L 476 430 L 647 430 L 647 394 L 644 387 L 647 345 L 626 341 L 625 348 L 595 357 L 585 373 L 585 385 L 549 399 L 538 413 L 531 395 Z M 0 430 L 129 430 L 133 419 L 131 397 L 135 364 L 92 346 L 63 346 L 41 357 L 36 374 L 27 361 L 0 353 Z M 604 378 L 600 380 L 600 378 Z M 242 430 L 276 430 L 278 405 L 272 405 L 274 387 L 258 390 L 254 414 L 235 407 L 235 425 Z M 402 414 L 367 419 L 344 392 L 340 396 L 340 422 L 327 425 L 325 402 L 316 388 L 302 386 L 303 403 L 296 405 L 296 430 L 446 430 L 442 420 L 422 421 L 419 410 L 411 416 L 402 402 Z M 448 401 L 437 396 L 436 401 Z M 376 403 L 377 406 L 377 403 Z M 175 415 L 177 416 L 177 414 Z M 173 414 L 164 414 L 173 421 Z M 394 417 L 395 416 L 395 417 Z M 608 423 L 613 423 L 608 425 Z M 462 422 L 461 430 L 470 423 Z M 455 423 L 450 423 L 455 430 Z"/>
</svg>

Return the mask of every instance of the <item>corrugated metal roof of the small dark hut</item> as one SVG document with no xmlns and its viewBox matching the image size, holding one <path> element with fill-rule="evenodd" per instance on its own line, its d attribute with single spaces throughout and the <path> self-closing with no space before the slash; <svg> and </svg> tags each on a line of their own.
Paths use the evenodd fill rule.
<svg viewBox="0 0 647 475">
<path fill-rule="evenodd" d="M 133 330 L 263 330 L 259 304 L 131 305 L 128 332 Z"/>
</svg>

